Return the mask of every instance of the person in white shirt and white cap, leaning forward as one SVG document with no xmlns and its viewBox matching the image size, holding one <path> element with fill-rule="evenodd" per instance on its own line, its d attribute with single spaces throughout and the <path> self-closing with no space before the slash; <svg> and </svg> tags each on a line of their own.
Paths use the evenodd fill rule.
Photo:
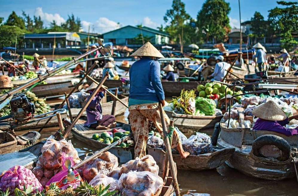
<svg viewBox="0 0 298 196">
<path fill-rule="evenodd" d="M 230 65 L 224 62 L 224 57 L 219 55 L 217 58 L 217 63 L 215 65 L 214 72 L 207 76 L 207 79 L 215 80 L 215 81 L 222 81 L 224 76 L 227 74 L 227 69 L 230 68 Z"/>
</svg>

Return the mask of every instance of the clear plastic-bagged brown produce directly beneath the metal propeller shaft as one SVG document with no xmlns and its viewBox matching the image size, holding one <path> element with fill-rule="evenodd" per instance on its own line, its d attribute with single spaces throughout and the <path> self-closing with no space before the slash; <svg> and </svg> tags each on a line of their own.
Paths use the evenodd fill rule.
<svg viewBox="0 0 298 196">
<path fill-rule="evenodd" d="M 83 180 L 90 182 L 96 175 L 110 175 L 111 172 L 117 167 L 117 157 L 110 152 L 104 152 L 97 158 L 85 163 L 83 166 L 77 169 L 77 172 L 79 172 Z"/>
</svg>

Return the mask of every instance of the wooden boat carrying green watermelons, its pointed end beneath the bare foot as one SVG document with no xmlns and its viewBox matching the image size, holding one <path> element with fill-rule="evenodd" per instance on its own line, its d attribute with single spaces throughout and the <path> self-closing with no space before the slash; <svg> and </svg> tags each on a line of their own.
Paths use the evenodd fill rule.
<svg viewBox="0 0 298 196">
<path fill-rule="evenodd" d="M 94 146 L 98 149 L 102 149 L 107 146 L 107 144 L 96 141 L 92 139 L 92 135 L 95 133 L 102 133 L 105 130 L 94 130 L 89 129 L 88 127 L 84 127 L 83 124 L 85 121 L 79 120 L 75 125 L 75 128 L 71 130 L 71 133 L 74 137 L 79 139 L 80 141 Z M 126 124 L 123 125 L 123 129 L 129 130 L 130 127 Z M 109 131 L 109 130 L 108 130 Z M 152 157 L 158 162 L 162 163 L 163 156 L 165 152 L 161 148 L 147 148 L 147 154 L 152 155 Z M 178 169 L 186 169 L 186 170 L 205 170 L 205 169 L 214 169 L 218 166 L 221 166 L 225 160 L 227 160 L 235 151 L 235 149 L 215 149 L 212 153 L 207 153 L 203 155 L 190 155 L 189 158 L 181 160 L 180 155 L 173 155 L 174 161 L 176 162 Z M 113 153 L 118 157 L 119 163 L 126 163 L 129 160 L 134 158 L 134 148 L 121 148 L 114 147 L 109 150 L 109 152 Z M 162 165 L 159 165 L 162 168 Z"/>
</svg>

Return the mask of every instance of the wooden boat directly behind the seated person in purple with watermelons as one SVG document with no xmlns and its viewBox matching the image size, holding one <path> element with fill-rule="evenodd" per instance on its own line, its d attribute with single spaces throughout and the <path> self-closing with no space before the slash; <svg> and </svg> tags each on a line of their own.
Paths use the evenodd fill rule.
<svg viewBox="0 0 298 196">
<path fill-rule="evenodd" d="M 121 99 L 121 101 L 123 101 L 126 105 L 128 105 L 128 97 L 123 96 L 123 95 L 119 95 L 118 97 Z M 103 110 L 103 112 L 102 112 L 103 115 L 111 114 L 111 111 L 113 108 L 113 101 L 110 100 L 111 96 L 108 96 L 107 99 L 108 99 L 107 100 L 108 102 L 101 104 L 101 109 Z M 80 112 L 80 110 L 81 110 L 81 108 L 71 108 L 71 115 L 73 117 L 76 117 L 77 114 Z M 126 110 L 126 107 L 123 104 L 121 104 L 120 101 L 117 101 L 114 115 L 115 116 L 121 115 L 125 112 L 125 110 Z M 82 116 L 86 116 L 86 112 L 84 112 L 82 114 Z"/>
</svg>

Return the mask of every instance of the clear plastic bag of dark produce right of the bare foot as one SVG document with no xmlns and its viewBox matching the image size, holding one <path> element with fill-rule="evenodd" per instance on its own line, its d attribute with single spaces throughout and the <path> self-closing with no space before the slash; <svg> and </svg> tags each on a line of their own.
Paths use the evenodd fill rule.
<svg viewBox="0 0 298 196">
<path fill-rule="evenodd" d="M 200 155 L 213 150 L 211 138 L 207 134 L 200 132 L 196 132 L 195 135 L 191 135 L 188 139 L 183 140 L 182 146 L 191 155 Z"/>
</svg>

